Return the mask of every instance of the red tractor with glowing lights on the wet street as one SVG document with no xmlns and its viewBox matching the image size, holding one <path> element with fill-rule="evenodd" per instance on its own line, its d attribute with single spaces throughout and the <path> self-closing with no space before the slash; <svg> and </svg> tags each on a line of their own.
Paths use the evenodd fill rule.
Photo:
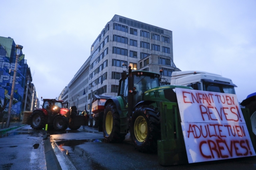
<svg viewBox="0 0 256 170">
<path fill-rule="evenodd" d="M 42 98 L 42 97 L 41 97 Z M 63 101 L 55 99 L 42 99 L 44 101 L 42 109 L 36 109 L 30 116 L 30 125 L 34 129 L 66 130 L 70 128 L 77 130 L 81 125 L 85 125 L 86 117 L 77 115 L 76 106 L 69 109 L 63 107 Z"/>
</svg>

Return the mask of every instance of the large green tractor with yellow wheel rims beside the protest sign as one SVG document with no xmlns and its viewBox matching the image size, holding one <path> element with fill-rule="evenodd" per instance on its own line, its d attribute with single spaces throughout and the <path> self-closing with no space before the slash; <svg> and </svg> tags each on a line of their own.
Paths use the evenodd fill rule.
<svg viewBox="0 0 256 170">
<path fill-rule="evenodd" d="M 161 70 L 160 70 L 161 73 Z M 160 102 L 177 103 L 175 87 L 160 86 L 160 74 L 148 71 L 123 71 L 119 81 L 118 96 L 107 99 L 103 117 L 106 142 L 122 142 L 130 137 L 140 152 L 156 152 L 161 139 Z"/>
</svg>

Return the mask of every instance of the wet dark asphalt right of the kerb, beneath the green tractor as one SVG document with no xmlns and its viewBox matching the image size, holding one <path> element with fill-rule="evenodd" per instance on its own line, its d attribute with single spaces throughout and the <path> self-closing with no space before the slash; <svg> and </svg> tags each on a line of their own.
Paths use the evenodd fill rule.
<svg viewBox="0 0 256 170">
<path fill-rule="evenodd" d="M 52 131 L 50 134 L 50 141 L 58 145 L 60 154 L 77 170 L 256 170 L 256 156 L 161 166 L 157 154 L 135 150 L 128 135 L 124 142 L 110 144 L 104 142 L 103 133 L 95 128 Z"/>
</svg>

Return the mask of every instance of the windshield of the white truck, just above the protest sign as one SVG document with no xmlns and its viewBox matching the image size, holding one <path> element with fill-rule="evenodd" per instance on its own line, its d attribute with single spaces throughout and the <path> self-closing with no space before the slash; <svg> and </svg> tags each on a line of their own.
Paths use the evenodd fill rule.
<svg viewBox="0 0 256 170">
<path fill-rule="evenodd" d="M 218 93 L 229 93 L 236 94 L 234 86 L 232 85 L 224 85 L 219 83 L 212 82 L 204 82 L 203 83 L 204 91 L 213 91 Z"/>
</svg>

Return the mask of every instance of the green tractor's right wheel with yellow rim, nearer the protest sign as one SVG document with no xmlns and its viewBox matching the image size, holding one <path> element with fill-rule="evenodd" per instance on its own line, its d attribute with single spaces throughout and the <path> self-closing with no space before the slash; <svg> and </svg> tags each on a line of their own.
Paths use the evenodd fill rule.
<svg viewBox="0 0 256 170">
<path fill-rule="evenodd" d="M 160 117 L 148 106 L 134 109 L 130 123 L 132 143 L 140 152 L 156 152 L 157 140 L 161 138 Z"/>
</svg>

